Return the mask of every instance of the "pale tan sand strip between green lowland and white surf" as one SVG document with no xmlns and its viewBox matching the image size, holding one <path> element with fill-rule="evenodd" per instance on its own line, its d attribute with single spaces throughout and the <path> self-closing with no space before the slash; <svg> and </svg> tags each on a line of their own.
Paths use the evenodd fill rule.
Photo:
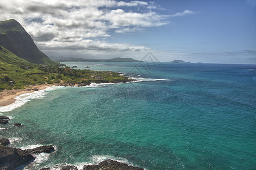
<svg viewBox="0 0 256 170">
<path fill-rule="evenodd" d="M 34 90 L 27 90 L 27 89 L 37 88 L 38 90 L 44 90 L 45 88 L 51 87 L 53 85 L 57 85 L 57 84 L 35 85 L 35 86 L 30 86 L 29 88 L 22 89 L 22 90 L 4 90 L 4 91 L 0 92 L 0 107 L 14 103 L 16 101 L 16 99 L 14 99 L 14 98 L 19 95 L 34 92 Z"/>
</svg>

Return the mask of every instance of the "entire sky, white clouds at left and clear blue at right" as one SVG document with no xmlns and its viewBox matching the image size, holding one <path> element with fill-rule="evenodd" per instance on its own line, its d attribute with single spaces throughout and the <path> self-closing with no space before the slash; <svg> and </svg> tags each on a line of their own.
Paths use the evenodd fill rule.
<svg viewBox="0 0 256 170">
<path fill-rule="evenodd" d="M 1 0 L 50 58 L 256 63 L 256 0 Z"/>
</svg>

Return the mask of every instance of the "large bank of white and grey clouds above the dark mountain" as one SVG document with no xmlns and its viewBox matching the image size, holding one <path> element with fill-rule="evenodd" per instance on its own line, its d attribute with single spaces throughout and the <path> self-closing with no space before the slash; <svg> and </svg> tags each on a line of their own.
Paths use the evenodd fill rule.
<svg viewBox="0 0 256 170">
<path fill-rule="evenodd" d="M 145 46 L 103 40 L 111 37 L 113 29 L 116 33 L 136 32 L 169 23 L 169 16 L 152 11 L 159 6 L 146 1 L 1 0 L 0 8 L 1 20 L 18 20 L 44 50 L 148 50 Z"/>
</svg>

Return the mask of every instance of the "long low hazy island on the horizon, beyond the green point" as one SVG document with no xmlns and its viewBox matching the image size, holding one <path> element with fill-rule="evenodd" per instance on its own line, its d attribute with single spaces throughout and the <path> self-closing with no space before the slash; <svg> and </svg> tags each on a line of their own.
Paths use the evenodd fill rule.
<svg viewBox="0 0 256 170">
<path fill-rule="evenodd" d="M 112 59 L 85 59 L 85 58 L 68 58 L 68 59 L 54 59 L 57 62 L 70 62 L 70 61 L 89 61 L 89 62 L 142 62 L 133 58 L 112 58 Z"/>
</svg>

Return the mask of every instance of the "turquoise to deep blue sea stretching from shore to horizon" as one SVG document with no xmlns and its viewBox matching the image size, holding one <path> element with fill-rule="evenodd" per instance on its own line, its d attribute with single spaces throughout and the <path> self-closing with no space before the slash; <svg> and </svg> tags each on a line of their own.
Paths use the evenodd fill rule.
<svg viewBox="0 0 256 170">
<path fill-rule="evenodd" d="M 119 71 L 137 82 L 53 87 L 2 112 L 11 121 L 0 125 L 0 137 L 11 146 L 56 147 L 26 169 L 104 159 L 145 169 L 256 169 L 255 65 L 65 64 Z"/>
</svg>

